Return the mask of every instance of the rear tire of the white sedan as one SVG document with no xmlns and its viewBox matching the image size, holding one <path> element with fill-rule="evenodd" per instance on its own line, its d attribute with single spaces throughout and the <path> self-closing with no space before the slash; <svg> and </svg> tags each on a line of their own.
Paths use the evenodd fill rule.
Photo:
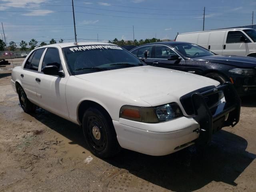
<svg viewBox="0 0 256 192">
<path fill-rule="evenodd" d="M 21 86 L 18 86 L 18 96 L 20 100 L 20 106 L 26 113 L 33 113 L 36 110 L 36 105 L 34 105 L 30 100 L 28 100 L 26 93 Z"/>
</svg>

